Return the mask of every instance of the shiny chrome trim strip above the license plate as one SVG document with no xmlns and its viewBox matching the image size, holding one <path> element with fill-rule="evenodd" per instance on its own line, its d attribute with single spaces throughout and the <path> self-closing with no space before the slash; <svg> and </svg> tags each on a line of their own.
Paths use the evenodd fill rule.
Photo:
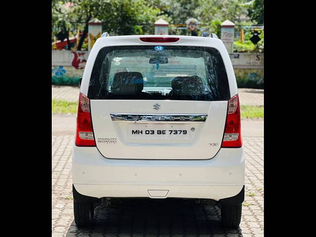
<svg viewBox="0 0 316 237">
<path fill-rule="evenodd" d="M 205 122 L 207 114 L 110 114 L 114 122 Z"/>
</svg>

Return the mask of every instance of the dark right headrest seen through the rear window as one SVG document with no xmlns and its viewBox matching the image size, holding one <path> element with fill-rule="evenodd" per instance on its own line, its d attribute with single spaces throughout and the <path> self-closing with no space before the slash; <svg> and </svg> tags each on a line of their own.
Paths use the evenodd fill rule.
<svg viewBox="0 0 316 237">
<path fill-rule="evenodd" d="M 204 95 L 205 85 L 198 76 L 176 77 L 171 81 L 174 95 Z"/>
</svg>

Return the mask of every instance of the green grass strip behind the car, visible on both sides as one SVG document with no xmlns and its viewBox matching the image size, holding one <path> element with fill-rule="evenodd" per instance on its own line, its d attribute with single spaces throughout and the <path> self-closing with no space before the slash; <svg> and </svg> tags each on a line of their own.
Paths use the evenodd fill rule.
<svg viewBox="0 0 316 237">
<path fill-rule="evenodd" d="M 76 114 L 78 102 L 52 100 L 53 114 Z M 263 106 L 240 106 L 241 118 L 263 118 Z"/>
</svg>

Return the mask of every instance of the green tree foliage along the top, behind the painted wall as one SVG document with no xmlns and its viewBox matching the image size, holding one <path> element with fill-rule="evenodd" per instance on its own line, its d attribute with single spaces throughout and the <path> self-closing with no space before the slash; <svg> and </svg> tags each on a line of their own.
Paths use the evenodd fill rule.
<svg viewBox="0 0 316 237">
<path fill-rule="evenodd" d="M 241 25 L 263 24 L 263 0 L 52 0 L 53 35 L 80 29 L 78 49 L 93 18 L 112 36 L 154 34 L 154 22 L 160 18 L 169 24 L 196 18 L 203 31 L 220 37 L 221 23 L 227 19 L 236 24 L 236 31 Z"/>
</svg>

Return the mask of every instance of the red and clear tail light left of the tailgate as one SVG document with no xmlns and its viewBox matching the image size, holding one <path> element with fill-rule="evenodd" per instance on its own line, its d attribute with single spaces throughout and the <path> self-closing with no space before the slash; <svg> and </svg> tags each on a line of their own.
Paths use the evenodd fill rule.
<svg viewBox="0 0 316 237">
<path fill-rule="evenodd" d="M 90 112 L 90 100 L 81 93 L 79 94 L 75 144 L 78 147 L 95 147 Z"/>
</svg>

